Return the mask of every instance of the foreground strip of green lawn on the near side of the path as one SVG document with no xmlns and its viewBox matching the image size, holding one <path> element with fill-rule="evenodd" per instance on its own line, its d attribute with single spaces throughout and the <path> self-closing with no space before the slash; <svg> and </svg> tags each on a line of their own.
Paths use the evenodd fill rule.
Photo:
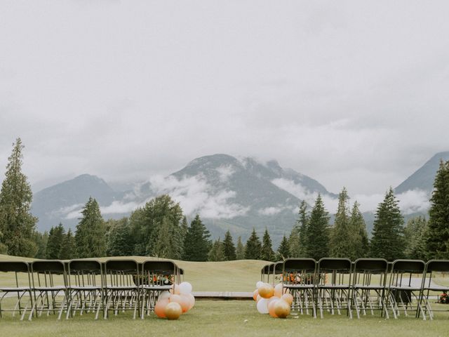
<svg viewBox="0 0 449 337">
<path fill-rule="evenodd" d="M 143 321 L 130 315 L 93 320 L 92 315 L 57 321 L 54 316 L 20 322 L 17 317 L 0 320 L 1 336 L 448 336 L 448 313 L 434 321 L 414 317 L 382 319 L 367 316 L 348 319 L 326 315 L 324 319 L 290 315 L 274 319 L 260 315 L 253 301 L 201 300 L 177 321 L 150 315 Z"/>
</svg>

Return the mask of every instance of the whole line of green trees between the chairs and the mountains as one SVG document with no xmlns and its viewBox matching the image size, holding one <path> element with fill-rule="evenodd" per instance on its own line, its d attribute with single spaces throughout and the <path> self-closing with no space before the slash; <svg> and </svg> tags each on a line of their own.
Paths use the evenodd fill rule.
<svg viewBox="0 0 449 337">
<path fill-rule="evenodd" d="M 75 232 L 62 224 L 49 232 L 35 229 L 30 213 L 32 192 L 22 173 L 20 138 L 8 158 L 0 191 L 0 253 L 36 258 L 90 258 L 100 256 L 155 256 L 191 261 L 238 259 L 282 260 L 291 257 L 449 258 L 449 161 L 441 162 L 434 182 L 429 220 L 417 217 L 404 224 L 398 200 L 390 188 L 377 206 L 369 240 L 357 201 L 350 206 L 345 188 L 339 194 L 335 220 L 320 195 L 314 205 L 299 205 L 297 221 L 274 251 L 267 229 L 262 240 L 253 231 L 243 244 L 229 231 L 224 239 L 210 239 L 199 215 L 188 223 L 180 204 L 168 195 L 156 197 L 127 218 L 102 218 L 98 202 L 83 206 Z"/>
</svg>

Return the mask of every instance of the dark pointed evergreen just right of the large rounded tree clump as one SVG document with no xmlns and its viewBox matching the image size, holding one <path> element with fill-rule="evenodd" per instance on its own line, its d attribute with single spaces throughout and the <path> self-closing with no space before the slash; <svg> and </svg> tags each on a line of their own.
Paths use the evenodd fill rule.
<svg viewBox="0 0 449 337">
<path fill-rule="evenodd" d="M 206 261 L 210 251 L 210 233 L 203 225 L 199 214 L 190 223 L 184 242 L 184 260 Z"/>
</svg>

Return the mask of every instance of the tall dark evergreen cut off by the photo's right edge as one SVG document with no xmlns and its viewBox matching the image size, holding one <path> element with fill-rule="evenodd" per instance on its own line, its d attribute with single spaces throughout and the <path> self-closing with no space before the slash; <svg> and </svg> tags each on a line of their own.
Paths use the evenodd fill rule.
<svg viewBox="0 0 449 337">
<path fill-rule="evenodd" d="M 449 258 L 449 161 L 440 162 L 430 199 L 427 253 L 429 258 Z"/>
</svg>

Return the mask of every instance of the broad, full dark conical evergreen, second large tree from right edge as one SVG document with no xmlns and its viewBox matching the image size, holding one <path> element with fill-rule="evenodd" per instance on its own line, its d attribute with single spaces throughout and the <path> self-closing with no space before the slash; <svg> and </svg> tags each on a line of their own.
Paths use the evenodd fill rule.
<svg viewBox="0 0 449 337">
<path fill-rule="evenodd" d="M 390 187 L 384 201 L 377 206 L 375 214 L 373 239 L 370 253 L 373 258 L 384 258 L 389 261 L 403 258 L 403 216 L 398 200 Z"/>
</svg>

